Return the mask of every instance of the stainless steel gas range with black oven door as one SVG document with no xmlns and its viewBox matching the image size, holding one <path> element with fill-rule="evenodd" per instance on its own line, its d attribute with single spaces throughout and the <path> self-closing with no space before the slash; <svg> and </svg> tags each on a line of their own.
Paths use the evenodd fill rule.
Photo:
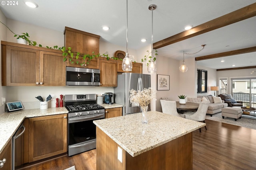
<svg viewBox="0 0 256 170">
<path fill-rule="evenodd" d="M 65 95 L 68 109 L 68 156 L 96 148 L 96 125 L 105 118 L 104 107 L 96 104 L 96 94 Z"/>
</svg>

